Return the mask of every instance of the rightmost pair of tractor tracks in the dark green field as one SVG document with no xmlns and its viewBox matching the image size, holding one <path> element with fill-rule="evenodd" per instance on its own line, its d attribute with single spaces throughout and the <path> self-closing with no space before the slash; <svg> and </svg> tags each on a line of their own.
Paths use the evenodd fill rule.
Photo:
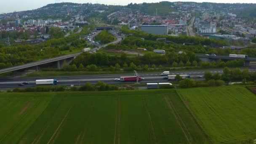
<svg viewBox="0 0 256 144">
<path fill-rule="evenodd" d="M 172 104 L 172 102 L 171 102 L 171 99 L 170 99 L 169 97 L 165 96 L 165 102 L 166 102 L 166 104 L 168 105 L 169 109 L 171 109 L 171 111 L 172 111 L 172 113 L 173 113 L 173 115 L 174 115 L 174 117 L 175 117 L 177 123 L 178 123 L 179 126 L 181 127 L 181 130 L 182 130 L 182 132 L 184 133 L 184 135 L 185 135 L 185 137 L 186 137 L 186 139 L 187 139 L 187 142 L 188 142 L 189 144 L 191 144 L 191 141 L 189 140 L 189 136 L 190 136 L 189 131 L 187 130 L 186 125 L 184 125 L 184 123 L 183 123 L 181 117 L 179 117 L 179 114 L 178 114 L 176 108 L 173 106 L 173 104 Z M 187 134 L 185 131 L 187 131 L 188 134 Z"/>
</svg>

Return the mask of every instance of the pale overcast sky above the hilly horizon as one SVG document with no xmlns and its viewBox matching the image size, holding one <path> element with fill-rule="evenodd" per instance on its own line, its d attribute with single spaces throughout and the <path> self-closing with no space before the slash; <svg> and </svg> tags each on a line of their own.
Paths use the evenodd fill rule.
<svg viewBox="0 0 256 144">
<path fill-rule="evenodd" d="M 193 1 L 213 2 L 213 0 L 0 0 L 0 13 L 13 11 L 26 11 L 43 7 L 49 3 L 72 2 L 72 3 L 102 3 L 107 5 L 127 5 L 128 3 L 156 3 L 160 1 Z M 214 0 L 215 3 L 256 3 L 256 0 Z"/>
</svg>

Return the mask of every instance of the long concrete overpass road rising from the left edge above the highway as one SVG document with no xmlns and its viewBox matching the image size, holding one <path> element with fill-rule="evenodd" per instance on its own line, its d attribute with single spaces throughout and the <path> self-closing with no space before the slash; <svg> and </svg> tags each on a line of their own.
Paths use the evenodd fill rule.
<svg viewBox="0 0 256 144">
<path fill-rule="evenodd" d="M 117 37 L 117 40 L 115 40 L 111 43 L 107 43 L 105 45 L 101 45 L 99 48 L 106 47 L 107 45 L 110 45 L 110 44 L 115 45 L 115 44 L 120 43 L 121 41 L 122 41 L 122 37 Z M 92 50 L 96 51 L 97 49 L 98 48 L 93 48 Z M 16 66 L 16 67 L 9 67 L 9 68 L 6 68 L 6 69 L 0 69 L 0 74 L 5 73 L 5 72 L 16 71 L 16 70 L 19 70 L 19 69 L 26 69 L 26 68 L 30 68 L 30 67 L 35 67 L 37 69 L 39 65 L 53 63 L 53 62 L 56 62 L 57 68 L 61 68 L 63 66 L 64 61 L 67 61 L 67 63 L 70 63 L 73 59 L 75 59 L 81 53 L 68 54 L 68 55 L 64 55 L 64 56 L 58 56 L 58 57 L 55 57 L 55 58 L 44 59 L 42 61 L 31 62 L 31 63 L 28 63 L 28 64 L 23 64 L 23 65 L 20 65 L 20 66 Z"/>
</svg>

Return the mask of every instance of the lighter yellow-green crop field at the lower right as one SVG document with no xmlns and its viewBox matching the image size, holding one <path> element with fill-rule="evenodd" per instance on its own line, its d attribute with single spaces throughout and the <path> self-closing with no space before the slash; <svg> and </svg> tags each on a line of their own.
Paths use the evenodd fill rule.
<svg viewBox="0 0 256 144">
<path fill-rule="evenodd" d="M 213 143 L 252 144 L 256 96 L 242 86 L 177 90 Z"/>
</svg>

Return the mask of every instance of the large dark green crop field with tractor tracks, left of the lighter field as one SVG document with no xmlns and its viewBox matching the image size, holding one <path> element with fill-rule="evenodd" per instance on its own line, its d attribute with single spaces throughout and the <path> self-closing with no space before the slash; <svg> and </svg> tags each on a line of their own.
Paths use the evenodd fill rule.
<svg viewBox="0 0 256 144">
<path fill-rule="evenodd" d="M 175 90 L 2 93 L 1 144 L 208 144 Z"/>
</svg>

